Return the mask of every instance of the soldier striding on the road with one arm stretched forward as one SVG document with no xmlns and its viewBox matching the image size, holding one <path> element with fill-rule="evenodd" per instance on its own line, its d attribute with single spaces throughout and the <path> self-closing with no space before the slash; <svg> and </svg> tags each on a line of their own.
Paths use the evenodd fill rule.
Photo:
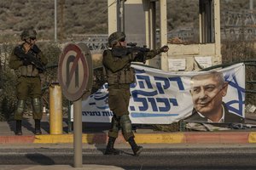
<svg viewBox="0 0 256 170">
<path fill-rule="evenodd" d="M 119 129 L 126 141 L 131 144 L 131 149 L 135 156 L 138 156 L 142 146 L 138 146 L 134 140 L 134 134 L 131 129 L 131 120 L 129 117 L 130 84 L 135 82 L 135 71 L 131 67 L 132 61 L 144 62 L 146 59 L 152 59 L 154 56 L 167 52 L 168 47 L 151 50 L 143 54 L 129 53 L 123 56 L 113 54 L 113 48 L 125 48 L 125 33 L 113 32 L 108 37 L 109 49 L 103 52 L 102 63 L 106 69 L 108 77 L 108 105 L 113 111 L 111 129 L 108 132 L 108 144 L 105 155 L 119 155 L 120 151 L 113 148 L 115 139 L 118 137 Z"/>
</svg>

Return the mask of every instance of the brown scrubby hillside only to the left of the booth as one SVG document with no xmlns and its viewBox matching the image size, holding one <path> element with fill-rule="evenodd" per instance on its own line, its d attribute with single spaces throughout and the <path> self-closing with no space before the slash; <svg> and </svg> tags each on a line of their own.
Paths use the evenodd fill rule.
<svg viewBox="0 0 256 170">
<path fill-rule="evenodd" d="M 10 34 L 24 28 L 35 28 L 44 39 L 53 39 L 55 26 L 54 0 L 0 0 L 0 32 Z M 72 33 L 107 33 L 106 0 L 57 1 L 57 27 L 63 37 Z M 58 35 L 61 36 L 61 35 Z"/>
</svg>

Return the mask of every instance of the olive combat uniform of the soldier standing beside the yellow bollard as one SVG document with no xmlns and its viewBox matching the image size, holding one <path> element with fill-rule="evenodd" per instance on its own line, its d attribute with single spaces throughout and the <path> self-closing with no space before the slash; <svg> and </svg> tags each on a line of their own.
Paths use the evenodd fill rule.
<svg viewBox="0 0 256 170">
<path fill-rule="evenodd" d="M 33 36 L 35 35 L 33 34 Z M 34 48 L 30 48 L 26 52 L 24 43 L 15 47 L 9 59 L 9 67 L 15 70 L 15 73 L 18 77 L 16 84 L 16 96 L 18 101 L 15 110 L 16 134 L 22 134 L 21 120 L 26 105 L 26 99 L 32 99 L 32 116 L 35 120 L 35 133 L 40 134 L 40 120 L 42 119 L 42 91 L 39 74 L 42 73 L 42 70 L 39 70 L 35 65 L 30 63 L 30 61 L 25 61 L 22 59 L 22 57 L 16 53 L 16 50 L 18 49 L 20 50 L 20 54 L 31 54 L 31 56 L 37 58 L 42 63 L 42 65 L 46 65 L 48 59 L 36 45 L 34 45 Z"/>
</svg>

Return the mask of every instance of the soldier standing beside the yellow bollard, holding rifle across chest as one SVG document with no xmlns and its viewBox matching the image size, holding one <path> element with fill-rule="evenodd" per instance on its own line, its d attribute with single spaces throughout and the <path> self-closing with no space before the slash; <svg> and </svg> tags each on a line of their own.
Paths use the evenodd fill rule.
<svg viewBox="0 0 256 170">
<path fill-rule="evenodd" d="M 41 134 L 42 91 L 39 74 L 44 72 L 48 60 L 35 44 L 37 32 L 32 29 L 22 31 L 20 38 L 24 41 L 15 47 L 9 59 L 9 67 L 15 69 L 18 77 L 16 85 L 17 105 L 15 109 L 16 135 L 22 135 L 21 120 L 26 105 L 26 99 L 32 99 L 35 134 Z"/>
</svg>

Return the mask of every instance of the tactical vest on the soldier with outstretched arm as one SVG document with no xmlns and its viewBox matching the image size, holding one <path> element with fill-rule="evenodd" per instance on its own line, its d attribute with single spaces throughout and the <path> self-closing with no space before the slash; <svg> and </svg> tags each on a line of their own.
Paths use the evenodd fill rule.
<svg viewBox="0 0 256 170">
<path fill-rule="evenodd" d="M 126 65 L 122 70 L 112 72 L 105 68 L 108 77 L 108 85 L 113 84 L 131 84 L 135 82 L 135 71 L 131 65 Z"/>
</svg>

